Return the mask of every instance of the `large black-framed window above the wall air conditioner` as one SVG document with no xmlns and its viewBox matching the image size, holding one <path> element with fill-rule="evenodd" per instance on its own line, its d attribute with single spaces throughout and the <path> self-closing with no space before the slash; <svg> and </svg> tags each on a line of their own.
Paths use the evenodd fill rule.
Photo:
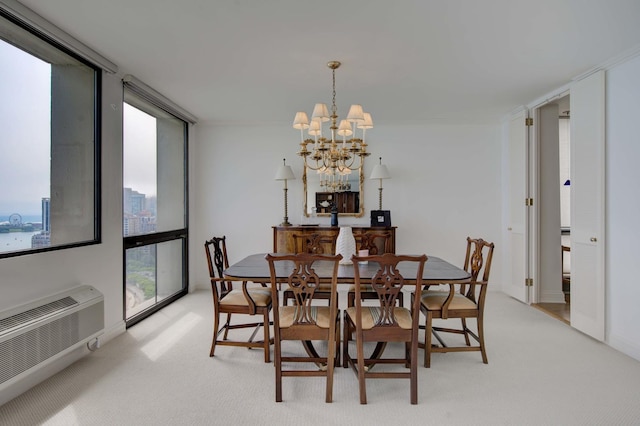
<svg viewBox="0 0 640 426">
<path fill-rule="evenodd" d="M 99 242 L 100 71 L 0 10 L 0 258 Z"/>
</svg>

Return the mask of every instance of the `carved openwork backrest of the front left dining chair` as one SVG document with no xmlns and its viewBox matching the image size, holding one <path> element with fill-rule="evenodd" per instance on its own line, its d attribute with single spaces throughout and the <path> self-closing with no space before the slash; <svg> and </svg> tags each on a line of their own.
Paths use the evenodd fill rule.
<svg viewBox="0 0 640 426">
<path fill-rule="evenodd" d="M 276 293 L 276 288 L 279 284 L 288 284 L 289 289 L 293 292 L 296 309 L 292 325 L 316 324 L 311 301 L 320 284 L 331 283 L 332 292 L 329 305 L 332 309 L 337 309 L 336 286 L 338 265 L 342 255 L 298 253 L 273 256 L 267 254 L 265 258 L 269 263 L 273 300 L 279 300 Z M 287 269 L 284 271 L 283 269 L 278 269 L 277 264 Z M 316 273 L 316 268 L 323 268 L 323 273 Z M 327 272 L 330 272 L 330 274 Z M 334 314 L 337 314 L 337 311 Z M 274 318 L 279 321 L 277 304 L 274 305 Z M 278 326 L 275 322 L 274 325 Z"/>
</svg>

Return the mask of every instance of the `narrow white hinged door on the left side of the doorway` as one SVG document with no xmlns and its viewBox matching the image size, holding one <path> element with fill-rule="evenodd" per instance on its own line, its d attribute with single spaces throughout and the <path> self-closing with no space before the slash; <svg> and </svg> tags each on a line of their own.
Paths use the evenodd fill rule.
<svg viewBox="0 0 640 426">
<path fill-rule="evenodd" d="M 527 111 L 522 111 L 509 121 L 509 142 L 507 166 L 508 185 L 508 225 L 505 260 L 509 271 L 503 289 L 510 296 L 529 303 L 529 291 L 525 284 L 528 274 L 528 220 L 525 200 L 528 194 L 528 137 L 525 119 Z"/>
</svg>

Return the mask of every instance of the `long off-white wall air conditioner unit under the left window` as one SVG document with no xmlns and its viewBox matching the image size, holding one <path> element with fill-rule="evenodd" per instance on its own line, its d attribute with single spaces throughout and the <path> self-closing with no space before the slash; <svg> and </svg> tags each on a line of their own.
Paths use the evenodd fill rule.
<svg viewBox="0 0 640 426">
<path fill-rule="evenodd" d="M 86 285 L 0 312 L 0 395 L 103 332 L 104 296 Z"/>
</svg>

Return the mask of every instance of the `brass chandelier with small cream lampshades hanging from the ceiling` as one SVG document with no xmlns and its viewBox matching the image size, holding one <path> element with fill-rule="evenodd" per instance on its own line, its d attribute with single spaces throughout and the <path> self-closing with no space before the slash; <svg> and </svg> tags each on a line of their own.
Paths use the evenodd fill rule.
<svg viewBox="0 0 640 426">
<path fill-rule="evenodd" d="M 316 170 L 324 175 L 321 182 L 324 187 L 333 191 L 344 191 L 348 175 L 352 170 L 362 167 L 367 152 L 365 132 L 373 128 L 371 114 L 363 112 L 361 105 L 351 105 L 347 118 L 338 125 L 338 109 L 336 107 L 336 69 L 340 62 L 327 63 L 333 73 L 333 98 L 331 101 L 331 115 L 326 104 L 318 103 L 313 108 L 311 122 L 307 114 L 297 112 L 293 120 L 293 128 L 300 130 L 300 151 L 298 155 L 304 159 L 305 167 Z M 330 137 L 323 136 L 323 123 L 330 121 Z M 356 128 L 362 130 L 362 139 L 347 137 L 356 134 Z M 313 139 L 304 138 L 307 130 Z M 342 136 L 342 141 L 338 137 Z"/>
</svg>

